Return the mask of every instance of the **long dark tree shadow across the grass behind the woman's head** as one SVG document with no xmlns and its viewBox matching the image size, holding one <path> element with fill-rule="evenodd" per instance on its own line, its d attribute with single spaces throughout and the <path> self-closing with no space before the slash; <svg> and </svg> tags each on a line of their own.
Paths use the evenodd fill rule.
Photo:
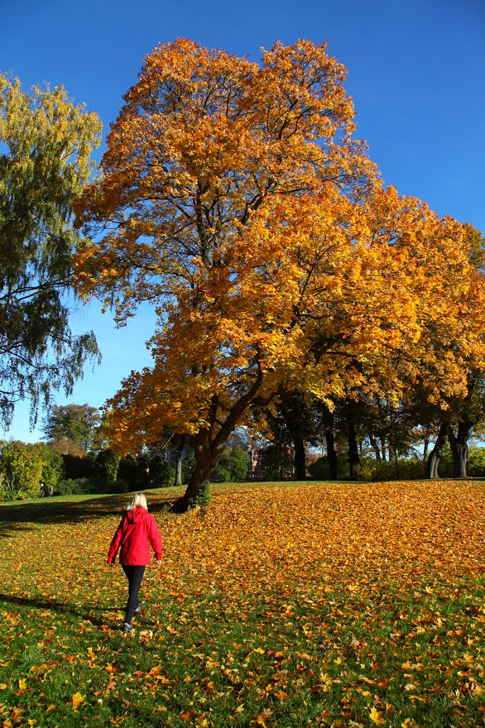
<svg viewBox="0 0 485 728">
<path fill-rule="evenodd" d="M 170 489 L 172 491 L 172 488 Z M 180 488 L 171 493 L 159 491 L 148 494 L 150 513 L 167 513 L 179 496 Z M 43 498 L 39 501 L 0 505 L 0 538 L 12 537 L 18 531 L 28 531 L 35 524 L 83 523 L 98 518 L 119 515 L 127 507 L 131 494 L 92 497 L 76 501 Z"/>
</svg>

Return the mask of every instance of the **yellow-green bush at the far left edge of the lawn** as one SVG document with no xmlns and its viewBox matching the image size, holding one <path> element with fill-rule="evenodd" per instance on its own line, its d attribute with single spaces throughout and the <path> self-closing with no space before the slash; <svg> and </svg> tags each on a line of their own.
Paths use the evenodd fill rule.
<svg viewBox="0 0 485 728">
<path fill-rule="evenodd" d="M 36 498 L 40 484 L 57 486 L 62 458 L 43 443 L 0 442 L 0 500 Z"/>
</svg>

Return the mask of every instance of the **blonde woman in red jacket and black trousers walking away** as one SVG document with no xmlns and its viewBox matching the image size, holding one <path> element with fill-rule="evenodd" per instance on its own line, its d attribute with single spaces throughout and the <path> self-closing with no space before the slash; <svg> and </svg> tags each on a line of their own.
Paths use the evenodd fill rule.
<svg viewBox="0 0 485 728">
<path fill-rule="evenodd" d="M 150 563 L 150 542 L 155 552 L 156 562 L 161 562 L 161 537 L 156 526 L 155 518 L 148 513 L 145 495 L 135 493 L 128 504 L 127 512 L 121 518 L 120 524 L 111 541 L 108 553 L 108 563 L 114 566 L 116 553 L 119 552 L 119 563 L 128 579 L 127 611 L 124 616 L 124 625 L 121 628 L 128 634 L 133 628 L 133 617 L 138 614 L 141 604 L 138 601 L 138 591 L 145 573 L 145 566 Z M 121 547 L 121 548 L 120 548 Z"/>
</svg>

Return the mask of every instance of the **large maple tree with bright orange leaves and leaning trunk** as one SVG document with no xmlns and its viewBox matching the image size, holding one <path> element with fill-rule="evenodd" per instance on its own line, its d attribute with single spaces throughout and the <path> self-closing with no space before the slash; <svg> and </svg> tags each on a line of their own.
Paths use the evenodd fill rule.
<svg viewBox="0 0 485 728">
<path fill-rule="evenodd" d="M 423 337 L 438 302 L 467 296 L 461 226 L 384 189 L 351 137 L 344 79 L 303 40 L 259 65 L 160 45 L 79 203 L 96 240 L 76 259 L 81 295 L 119 323 L 143 300 L 159 313 L 153 367 L 109 403 L 112 446 L 194 435 L 185 509 L 251 405 L 285 387 L 328 403 L 357 386 L 398 396 L 417 354 L 419 376 L 436 365 Z M 440 363 L 437 389 L 463 386 L 458 359 Z"/>
</svg>

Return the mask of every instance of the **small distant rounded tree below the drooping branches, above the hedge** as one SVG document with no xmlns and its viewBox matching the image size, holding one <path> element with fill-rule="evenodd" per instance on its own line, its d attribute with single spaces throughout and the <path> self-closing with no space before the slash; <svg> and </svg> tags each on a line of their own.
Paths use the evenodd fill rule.
<svg viewBox="0 0 485 728">
<path fill-rule="evenodd" d="M 100 411 L 84 405 L 53 405 L 42 423 L 44 438 L 62 454 L 82 455 L 100 449 Z M 76 451 L 78 450 L 78 451 Z"/>
</svg>

